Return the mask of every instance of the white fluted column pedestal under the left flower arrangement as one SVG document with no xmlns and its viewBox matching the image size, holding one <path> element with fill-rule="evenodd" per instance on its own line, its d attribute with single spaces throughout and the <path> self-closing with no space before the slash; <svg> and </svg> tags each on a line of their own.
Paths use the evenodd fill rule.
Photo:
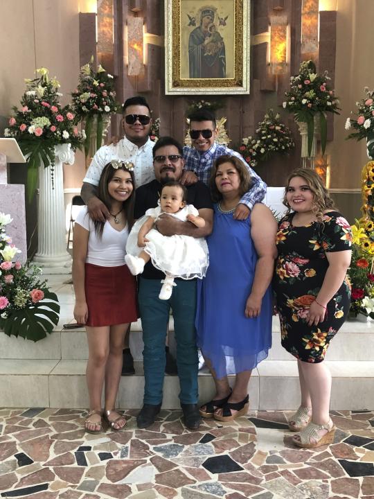
<svg viewBox="0 0 374 499">
<path fill-rule="evenodd" d="M 69 274 L 71 256 L 66 250 L 65 207 L 62 164 L 73 164 L 74 152 L 70 144 L 55 146 L 53 183 L 51 166 L 39 167 L 39 204 L 37 226 L 37 254 L 34 263 L 45 274 Z"/>
</svg>

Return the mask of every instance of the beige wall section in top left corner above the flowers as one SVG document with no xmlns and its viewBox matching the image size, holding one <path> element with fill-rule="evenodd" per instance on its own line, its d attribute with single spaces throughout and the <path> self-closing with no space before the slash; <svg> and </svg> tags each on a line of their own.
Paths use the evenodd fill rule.
<svg viewBox="0 0 374 499">
<path fill-rule="evenodd" d="M 0 19 L 0 114 L 8 116 L 35 70 L 33 0 L 0 0 Z"/>
</svg>

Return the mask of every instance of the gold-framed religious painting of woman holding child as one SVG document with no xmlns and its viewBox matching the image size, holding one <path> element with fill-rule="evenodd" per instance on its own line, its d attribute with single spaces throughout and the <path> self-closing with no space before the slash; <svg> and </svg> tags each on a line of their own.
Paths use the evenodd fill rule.
<svg viewBox="0 0 374 499">
<path fill-rule="evenodd" d="M 248 0 L 165 0 L 166 94 L 249 94 Z"/>
</svg>

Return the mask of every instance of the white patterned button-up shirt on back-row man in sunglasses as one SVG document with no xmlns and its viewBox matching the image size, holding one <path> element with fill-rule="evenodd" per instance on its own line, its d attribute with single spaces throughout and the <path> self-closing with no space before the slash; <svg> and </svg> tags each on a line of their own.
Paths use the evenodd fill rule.
<svg viewBox="0 0 374 499">
<path fill-rule="evenodd" d="M 123 137 L 123 139 L 116 144 L 112 143 L 109 146 L 100 147 L 89 165 L 83 182 L 98 186 L 104 166 L 109 163 L 109 161 L 112 161 L 112 159 L 132 161 L 132 163 L 134 163 L 135 187 L 140 187 L 144 184 L 148 184 L 148 182 L 152 182 L 152 180 L 154 180 L 153 146 L 154 142 L 149 138 L 144 146 L 139 148 L 129 139 Z"/>
</svg>

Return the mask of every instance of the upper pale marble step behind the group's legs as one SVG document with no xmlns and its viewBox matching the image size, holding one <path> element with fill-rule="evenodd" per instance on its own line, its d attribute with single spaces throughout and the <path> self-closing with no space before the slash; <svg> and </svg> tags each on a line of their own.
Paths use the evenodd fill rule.
<svg viewBox="0 0 374 499">
<path fill-rule="evenodd" d="M 84 328 L 63 329 L 63 324 L 73 322 L 71 316 L 62 317 L 55 331 L 47 338 L 33 343 L 22 338 L 8 338 L 0 333 L 0 358 L 4 359 L 55 359 L 85 360 L 88 357 L 87 338 Z M 170 349 L 175 352 L 174 323 L 170 318 Z M 136 360 L 142 360 L 143 340 L 141 321 L 132 324 L 130 347 Z M 374 321 L 366 317 L 348 320 L 332 340 L 328 349 L 328 360 L 368 360 L 374 349 Z M 268 360 L 290 360 L 281 346 L 281 330 L 278 317 L 273 319 L 273 345 Z"/>
</svg>

